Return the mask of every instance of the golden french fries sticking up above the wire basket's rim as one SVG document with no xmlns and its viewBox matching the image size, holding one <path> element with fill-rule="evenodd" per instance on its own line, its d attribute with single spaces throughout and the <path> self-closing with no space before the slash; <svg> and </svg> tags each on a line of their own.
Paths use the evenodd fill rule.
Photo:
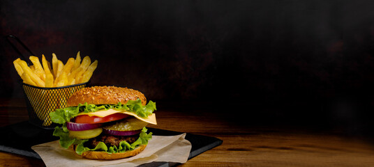
<svg viewBox="0 0 374 167">
<path fill-rule="evenodd" d="M 98 67 L 98 61 L 91 63 L 89 56 L 85 56 L 81 63 L 80 51 L 75 59 L 69 58 L 65 65 L 57 59 L 56 54 L 52 54 L 52 67 L 44 55 L 41 63 L 36 56 L 30 56 L 29 59 L 33 65 L 28 66 L 26 61 L 20 58 L 13 61 L 15 70 L 25 84 L 43 88 L 85 83 L 91 79 L 93 71 Z"/>
</svg>

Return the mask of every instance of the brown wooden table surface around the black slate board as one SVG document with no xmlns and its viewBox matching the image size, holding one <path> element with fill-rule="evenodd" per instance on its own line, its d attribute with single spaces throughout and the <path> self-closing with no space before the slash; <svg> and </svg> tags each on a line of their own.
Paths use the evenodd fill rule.
<svg viewBox="0 0 374 167">
<path fill-rule="evenodd" d="M 251 126 L 209 107 L 158 104 L 158 129 L 214 136 L 223 144 L 180 166 L 374 166 L 373 141 L 302 127 Z M 28 120 L 23 100 L 0 101 L 0 126 Z M 0 152 L 0 166 L 45 166 L 40 159 Z"/>
</svg>

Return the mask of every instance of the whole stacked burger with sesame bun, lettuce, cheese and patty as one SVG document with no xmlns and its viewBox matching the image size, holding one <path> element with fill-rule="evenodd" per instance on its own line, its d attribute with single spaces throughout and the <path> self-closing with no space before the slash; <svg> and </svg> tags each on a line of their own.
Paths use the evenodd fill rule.
<svg viewBox="0 0 374 167">
<path fill-rule="evenodd" d="M 63 148 L 73 149 L 87 159 L 122 159 L 147 147 L 156 125 L 156 103 L 140 91 L 115 86 L 93 86 L 68 99 L 65 109 L 50 113 Z"/>
</svg>

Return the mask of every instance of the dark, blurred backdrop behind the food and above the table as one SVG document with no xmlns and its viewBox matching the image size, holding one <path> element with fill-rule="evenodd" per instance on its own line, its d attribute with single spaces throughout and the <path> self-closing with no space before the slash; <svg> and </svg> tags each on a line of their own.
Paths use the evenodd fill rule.
<svg viewBox="0 0 374 167">
<path fill-rule="evenodd" d="M 238 122 L 373 134 L 374 1 L 0 1 L 36 56 L 98 60 L 91 85 Z M 0 39 L 0 95 L 23 97 Z M 24 52 L 25 56 L 29 56 Z M 249 120 L 242 119 L 248 116 Z M 238 119 L 239 118 L 239 119 Z M 230 119 L 227 118 L 227 119 Z"/>
</svg>

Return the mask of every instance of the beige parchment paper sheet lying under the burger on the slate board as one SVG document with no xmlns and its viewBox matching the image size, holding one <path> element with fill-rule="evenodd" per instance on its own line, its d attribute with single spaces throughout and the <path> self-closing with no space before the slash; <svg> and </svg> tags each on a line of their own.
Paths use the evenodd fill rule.
<svg viewBox="0 0 374 167">
<path fill-rule="evenodd" d="M 43 143 L 31 147 L 43 159 L 46 166 L 139 166 L 152 161 L 185 163 L 191 150 L 191 143 L 184 137 L 152 136 L 147 148 L 134 157 L 117 160 L 84 159 L 73 150 L 61 148 L 59 141 Z"/>
</svg>

